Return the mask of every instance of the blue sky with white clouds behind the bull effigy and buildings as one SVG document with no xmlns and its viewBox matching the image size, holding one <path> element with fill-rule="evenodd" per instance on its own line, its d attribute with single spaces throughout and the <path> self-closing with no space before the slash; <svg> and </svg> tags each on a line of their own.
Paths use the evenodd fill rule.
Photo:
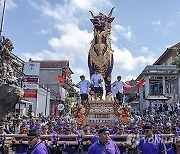
<svg viewBox="0 0 180 154">
<path fill-rule="evenodd" d="M 3 0 L 0 0 L 2 3 Z M 6 0 L 3 35 L 13 53 L 28 61 L 69 60 L 73 82 L 89 79 L 92 11 L 112 17 L 112 80 L 136 79 L 170 46 L 180 41 L 180 0 Z M 1 12 L 2 12 L 2 5 Z M 2 13 L 1 13 L 2 15 Z"/>
</svg>

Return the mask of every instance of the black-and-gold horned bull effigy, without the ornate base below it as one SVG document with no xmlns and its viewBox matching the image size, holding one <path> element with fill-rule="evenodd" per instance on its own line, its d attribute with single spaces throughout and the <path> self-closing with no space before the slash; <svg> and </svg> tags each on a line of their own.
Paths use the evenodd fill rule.
<svg viewBox="0 0 180 154">
<path fill-rule="evenodd" d="M 114 17 L 111 18 L 113 9 L 107 16 L 101 12 L 94 16 L 90 11 L 92 15 L 90 20 L 94 25 L 94 38 L 89 50 L 88 66 L 90 76 L 94 74 L 96 69 L 102 74 L 105 81 L 106 95 L 111 92 L 111 72 L 114 63 L 110 39 L 111 22 L 114 20 Z"/>
</svg>

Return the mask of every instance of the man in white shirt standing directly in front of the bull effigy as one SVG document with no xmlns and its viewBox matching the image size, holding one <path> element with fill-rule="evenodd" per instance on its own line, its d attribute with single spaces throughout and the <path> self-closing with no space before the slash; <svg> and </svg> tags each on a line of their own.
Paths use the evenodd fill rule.
<svg viewBox="0 0 180 154">
<path fill-rule="evenodd" d="M 103 96 L 103 76 L 96 69 L 95 73 L 91 76 L 91 84 L 95 94 L 102 99 Z"/>
</svg>

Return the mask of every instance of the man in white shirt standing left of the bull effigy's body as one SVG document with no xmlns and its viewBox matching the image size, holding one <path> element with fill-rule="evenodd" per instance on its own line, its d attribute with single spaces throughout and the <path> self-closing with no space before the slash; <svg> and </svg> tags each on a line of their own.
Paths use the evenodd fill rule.
<svg viewBox="0 0 180 154">
<path fill-rule="evenodd" d="M 80 96 L 81 101 L 85 101 L 88 99 L 88 89 L 91 86 L 91 83 L 88 80 L 85 80 L 85 76 L 80 76 L 81 81 L 76 85 L 78 88 L 80 88 Z"/>
</svg>

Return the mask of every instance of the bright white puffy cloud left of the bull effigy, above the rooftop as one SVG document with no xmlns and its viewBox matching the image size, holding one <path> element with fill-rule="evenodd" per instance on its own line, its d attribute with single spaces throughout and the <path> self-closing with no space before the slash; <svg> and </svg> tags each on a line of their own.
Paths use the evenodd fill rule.
<svg viewBox="0 0 180 154">
<path fill-rule="evenodd" d="M 87 55 L 93 34 L 88 33 L 87 30 L 80 30 L 72 24 L 64 26 L 56 25 L 56 27 L 64 34 L 60 37 L 53 37 L 48 41 L 53 51 L 42 50 L 34 56 L 31 53 L 24 53 L 23 56 L 26 59 L 31 57 L 33 60 L 65 59 L 69 60 L 72 64 L 76 61 L 87 62 Z"/>
</svg>

